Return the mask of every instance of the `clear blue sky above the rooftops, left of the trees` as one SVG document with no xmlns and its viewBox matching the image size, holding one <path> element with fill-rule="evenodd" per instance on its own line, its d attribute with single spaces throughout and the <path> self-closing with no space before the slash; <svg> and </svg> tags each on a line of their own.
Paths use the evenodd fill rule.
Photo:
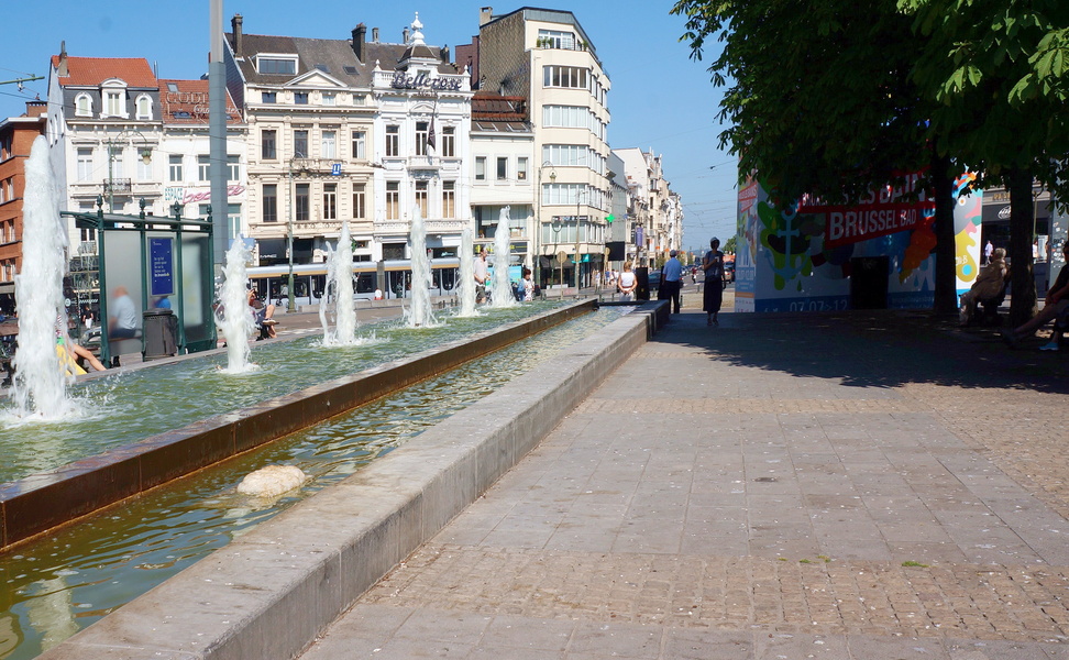
<svg viewBox="0 0 1069 660">
<path fill-rule="evenodd" d="M 229 31 L 230 18 L 241 13 L 250 34 L 322 38 L 348 38 L 363 22 L 368 29 L 379 28 L 382 41 L 398 43 L 418 11 L 427 43 L 455 51 L 478 32 L 478 10 L 486 6 L 497 14 L 525 7 L 492 0 L 224 0 L 223 21 Z M 665 175 L 683 198 L 684 245 L 701 249 L 714 234 L 725 240 L 735 227 L 736 168 L 734 158 L 717 150 L 720 95 L 706 70 L 709 54 L 694 62 L 688 47 L 679 42 L 684 21 L 669 13 L 672 2 L 567 0 L 531 6 L 573 12 L 591 36 L 613 80 L 609 144 L 652 148 L 664 156 Z M 59 52 L 60 41 L 74 56 L 145 57 L 166 78 L 198 78 L 208 69 L 208 0 L 58 0 L 46 13 L 42 16 L 41 6 L 32 2 L 5 3 L 0 80 L 26 74 L 47 78 L 48 58 Z M 21 114 L 23 100 L 37 94 L 45 98 L 46 92 L 46 79 L 26 82 L 22 91 L 0 85 L 0 117 Z"/>
</svg>

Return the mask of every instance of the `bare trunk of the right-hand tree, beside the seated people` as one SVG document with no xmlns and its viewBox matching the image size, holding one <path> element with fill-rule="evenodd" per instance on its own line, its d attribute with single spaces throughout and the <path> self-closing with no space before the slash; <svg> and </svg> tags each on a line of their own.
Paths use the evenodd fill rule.
<svg viewBox="0 0 1069 660">
<path fill-rule="evenodd" d="M 1032 275 L 1032 238 L 1036 213 L 1032 206 L 1032 172 L 1006 172 L 1010 189 L 1010 324 L 1016 328 L 1036 316 L 1036 280 Z"/>
</svg>

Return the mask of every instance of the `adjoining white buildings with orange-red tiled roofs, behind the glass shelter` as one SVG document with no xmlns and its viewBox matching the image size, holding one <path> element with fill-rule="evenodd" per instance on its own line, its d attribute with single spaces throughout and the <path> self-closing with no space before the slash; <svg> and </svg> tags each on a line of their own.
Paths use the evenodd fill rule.
<svg viewBox="0 0 1069 660">
<path fill-rule="evenodd" d="M 241 215 L 244 125 L 228 99 L 231 212 Z M 143 57 L 53 56 L 47 135 L 62 190 L 60 207 L 95 212 L 203 219 L 207 193 L 208 84 L 158 80 Z M 203 178 L 201 178 L 203 177 Z M 236 228 L 236 220 L 231 226 Z M 68 226 L 71 256 L 97 253 L 89 229 Z"/>
</svg>

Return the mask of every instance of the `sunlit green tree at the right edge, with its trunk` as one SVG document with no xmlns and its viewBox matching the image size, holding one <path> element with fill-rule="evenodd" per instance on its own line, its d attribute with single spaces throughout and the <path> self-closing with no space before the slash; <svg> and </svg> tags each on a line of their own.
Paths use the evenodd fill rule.
<svg viewBox="0 0 1069 660">
<path fill-rule="evenodd" d="M 1033 177 L 1069 196 L 1069 3 L 1064 0 L 900 0 L 923 37 L 912 75 L 936 101 L 937 152 L 963 158 L 979 187 L 1010 191 L 1010 317 L 1035 315 Z"/>
</svg>

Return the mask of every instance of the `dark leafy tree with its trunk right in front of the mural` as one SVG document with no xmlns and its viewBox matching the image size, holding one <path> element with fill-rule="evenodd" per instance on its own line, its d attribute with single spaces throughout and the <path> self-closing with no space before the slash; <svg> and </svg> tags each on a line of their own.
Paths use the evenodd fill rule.
<svg viewBox="0 0 1069 660">
<path fill-rule="evenodd" d="M 781 200 L 859 198 L 907 172 L 937 186 L 936 308 L 957 307 L 951 162 L 933 151 L 930 101 L 911 78 L 917 43 L 894 0 L 858 11 L 846 0 L 679 0 L 683 41 L 726 87 L 720 146 L 758 172 Z M 944 196 L 946 199 L 944 199 Z"/>
</svg>

